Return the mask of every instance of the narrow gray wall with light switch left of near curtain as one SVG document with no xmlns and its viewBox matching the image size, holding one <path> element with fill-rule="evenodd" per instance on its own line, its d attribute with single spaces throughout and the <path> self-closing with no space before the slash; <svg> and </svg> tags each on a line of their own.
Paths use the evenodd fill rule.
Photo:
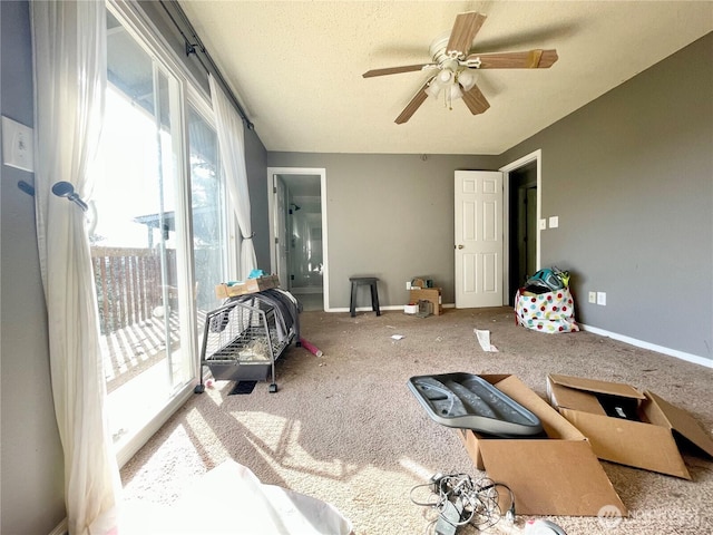
<svg viewBox="0 0 713 535">
<path fill-rule="evenodd" d="M 29 4 L 0 2 L 1 113 L 33 126 Z M 0 532 L 49 533 L 65 518 L 64 460 L 49 378 L 47 311 L 40 281 L 35 201 L 1 167 L 2 403 Z"/>
</svg>

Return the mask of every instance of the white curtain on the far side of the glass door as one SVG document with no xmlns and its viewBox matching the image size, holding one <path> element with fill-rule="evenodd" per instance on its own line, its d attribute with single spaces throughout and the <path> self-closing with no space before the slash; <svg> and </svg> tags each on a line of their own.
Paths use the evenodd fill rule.
<svg viewBox="0 0 713 535">
<path fill-rule="evenodd" d="M 242 234 L 237 276 L 240 280 L 245 280 L 257 264 L 250 222 L 250 192 L 247 189 L 247 169 L 245 168 L 245 127 L 235 106 L 212 75 L 208 75 L 208 81 L 218 130 L 223 173 Z"/>
</svg>

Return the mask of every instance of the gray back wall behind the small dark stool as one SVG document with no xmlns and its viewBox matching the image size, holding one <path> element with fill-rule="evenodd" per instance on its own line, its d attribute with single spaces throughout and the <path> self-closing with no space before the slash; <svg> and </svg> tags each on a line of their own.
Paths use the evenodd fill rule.
<svg viewBox="0 0 713 535">
<path fill-rule="evenodd" d="M 349 308 L 349 278 L 373 274 L 383 305 L 429 276 L 453 302 L 453 172 L 495 169 L 496 157 L 268 153 L 271 167 L 326 169 L 330 308 Z M 324 192 L 322 192 L 324 195 Z M 359 305 L 369 305 L 364 293 Z"/>
</svg>

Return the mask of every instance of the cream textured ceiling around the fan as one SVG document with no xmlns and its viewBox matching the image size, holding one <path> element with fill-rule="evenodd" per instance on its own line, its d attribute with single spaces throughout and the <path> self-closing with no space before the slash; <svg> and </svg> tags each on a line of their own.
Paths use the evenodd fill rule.
<svg viewBox="0 0 713 535">
<path fill-rule="evenodd" d="M 713 30 L 711 1 L 180 1 L 268 150 L 500 154 Z M 490 109 L 428 99 L 370 69 L 431 60 L 463 11 L 480 52 L 555 48 L 549 69 L 481 70 Z"/>
</svg>

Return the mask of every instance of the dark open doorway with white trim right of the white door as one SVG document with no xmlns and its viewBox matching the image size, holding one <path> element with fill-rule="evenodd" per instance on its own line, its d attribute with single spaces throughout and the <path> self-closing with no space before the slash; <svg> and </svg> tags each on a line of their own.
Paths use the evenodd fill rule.
<svg viewBox="0 0 713 535">
<path fill-rule="evenodd" d="M 541 213 L 540 150 L 502 167 L 506 172 L 505 271 L 507 303 L 515 305 L 515 292 L 539 269 L 539 225 Z"/>
</svg>

